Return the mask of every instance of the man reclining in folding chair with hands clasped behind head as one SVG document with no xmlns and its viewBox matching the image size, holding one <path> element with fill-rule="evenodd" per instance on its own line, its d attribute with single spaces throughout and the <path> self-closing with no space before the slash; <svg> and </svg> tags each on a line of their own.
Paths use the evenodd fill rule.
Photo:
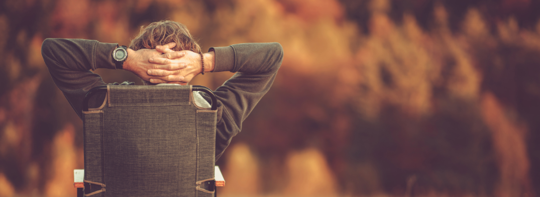
<svg viewBox="0 0 540 197">
<path fill-rule="evenodd" d="M 53 81 L 79 117 L 82 117 L 82 100 L 86 92 L 93 87 L 107 85 L 98 74 L 89 70 L 124 69 L 153 84 L 187 84 L 203 71 L 236 72 L 214 91 L 218 99 L 215 142 L 215 158 L 218 159 L 232 137 L 241 131 L 242 121 L 272 86 L 283 59 L 282 47 L 279 43 L 247 43 L 211 47 L 204 54 L 195 52 L 193 49 L 196 47 L 173 51 L 171 48 L 178 45 L 182 46 L 181 49 L 192 46 L 194 40 L 181 24 L 170 21 L 156 23 L 149 26 L 157 26 L 158 30 L 149 30 L 147 27 L 134 39 L 137 40 L 143 35 L 145 39 L 136 42 L 146 43 L 142 45 L 151 48 L 155 46 L 155 49 L 143 47 L 137 50 L 137 47 L 132 47 L 137 45 L 133 44 L 133 41 L 130 48 L 125 49 L 118 47 L 118 44 L 100 43 L 96 40 L 49 38 L 45 39 L 42 45 L 43 59 Z M 178 33 L 179 41 L 167 42 L 167 39 L 175 37 L 170 36 L 174 33 L 170 33 L 169 29 L 181 31 Z M 152 36 L 144 36 L 144 33 Z M 184 37 L 191 39 L 186 41 L 183 40 Z M 125 81 L 122 84 L 109 85 L 134 84 Z M 91 99 L 89 105 L 99 106 L 104 97 L 103 95 Z"/>
</svg>

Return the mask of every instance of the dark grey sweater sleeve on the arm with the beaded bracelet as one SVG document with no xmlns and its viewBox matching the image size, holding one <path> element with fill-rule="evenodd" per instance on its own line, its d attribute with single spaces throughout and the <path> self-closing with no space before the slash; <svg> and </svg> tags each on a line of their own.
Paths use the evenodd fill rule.
<svg viewBox="0 0 540 197">
<path fill-rule="evenodd" d="M 241 131 L 242 122 L 272 86 L 283 60 L 283 49 L 279 43 L 246 43 L 211 50 L 215 51 L 213 72 L 236 72 L 214 91 L 218 99 L 215 157 L 219 159 L 232 137 Z"/>
</svg>

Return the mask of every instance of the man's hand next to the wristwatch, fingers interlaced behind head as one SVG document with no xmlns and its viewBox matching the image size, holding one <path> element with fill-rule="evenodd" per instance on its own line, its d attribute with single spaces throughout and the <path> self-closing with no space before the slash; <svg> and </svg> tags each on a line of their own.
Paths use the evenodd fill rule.
<svg viewBox="0 0 540 197">
<path fill-rule="evenodd" d="M 163 46 L 161 46 L 163 49 L 161 51 L 168 49 L 170 50 L 172 47 L 176 46 L 176 43 L 168 43 Z M 172 50 L 171 50 L 172 51 Z M 131 71 L 134 74 L 136 74 L 138 77 L 140 77 L 143 80 L 150 80 L 150 78 L 156 78 L 153 76 L 149 76 L 147 74 L 147 71 L 150 69 L 161 69 L 163 68 L 163 65 L 151 63 L 149 59 L 161 57 L 162 52 L 156 50 L 156 49 L 140 49 L 137 51 L 127 49 L 127 59 L 124 62 L 124 70 Z M 178 64 L 168 64 L 168 70 L 180 70 L 184 69 L 187 65 L 185 63 L 178 63 Z M 173 78 L 170 78 L 168 81 L 183 81 L 183 76 L 174 76 Z"/>
</svg>

